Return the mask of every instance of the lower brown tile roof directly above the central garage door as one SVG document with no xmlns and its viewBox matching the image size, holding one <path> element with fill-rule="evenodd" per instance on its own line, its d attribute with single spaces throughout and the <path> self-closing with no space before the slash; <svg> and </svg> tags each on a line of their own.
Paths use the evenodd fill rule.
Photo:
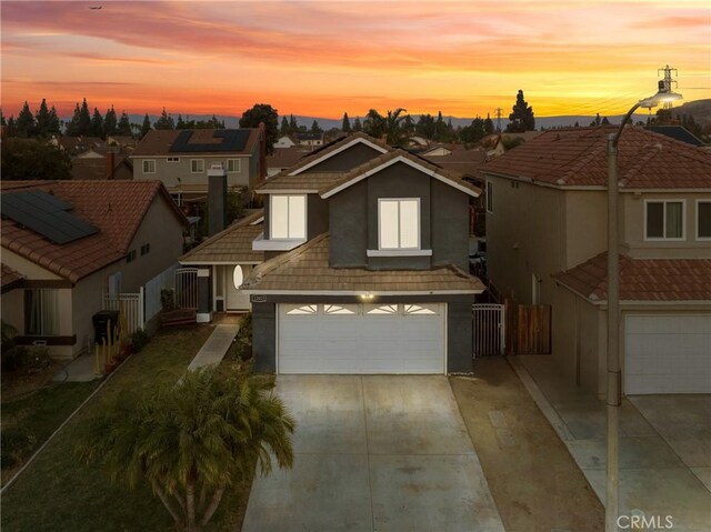
<svg viewBox="0 0 711 532">
<path fill-rule="evenodd" d="M 329 267 L 329 234 L 254 268 L 241 287 L 254 292 L 478 293 L 482 282 L 454 265 L 433 270 L 365 270 Z"/>
</svg>

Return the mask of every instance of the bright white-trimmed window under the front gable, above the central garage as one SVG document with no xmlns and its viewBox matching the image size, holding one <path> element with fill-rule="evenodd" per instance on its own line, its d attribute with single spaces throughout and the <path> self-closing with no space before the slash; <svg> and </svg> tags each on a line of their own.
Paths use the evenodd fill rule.
<svg viewBox="0 0 711 532">
<path fill-rule="evenodd" d="M 420 199 L 378 200 L 378 248 L 381 250 L 420 249 Z"/>
</svg>

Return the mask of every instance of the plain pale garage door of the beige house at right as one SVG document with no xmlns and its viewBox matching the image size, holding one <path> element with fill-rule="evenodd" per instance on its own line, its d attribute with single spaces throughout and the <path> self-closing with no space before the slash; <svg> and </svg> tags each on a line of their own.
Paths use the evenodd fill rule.
<svg viewBox="0 0 711 532">
<path fill-rule="evenodd" d="M 711 393 L 711 314 L 628 315 L 624 390 Z"/>
</svg>

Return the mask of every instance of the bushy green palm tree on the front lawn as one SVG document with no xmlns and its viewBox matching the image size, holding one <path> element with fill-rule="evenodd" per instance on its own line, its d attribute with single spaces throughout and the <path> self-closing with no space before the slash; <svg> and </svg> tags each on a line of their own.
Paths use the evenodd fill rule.
<svg viewBox="0 0 711 532">
<path fill-rule="evenodd" d="M 197 531 L 257 465 L 268 474 L 273 455 L 279 468 L 291 468 L 294 420 L 271 388 L 244 370 L 189 371 L 136 401 L 121 398 L 93 420 L 77 452 L 113 482 L 148 481 L 176 524 Z"/>
</svg>

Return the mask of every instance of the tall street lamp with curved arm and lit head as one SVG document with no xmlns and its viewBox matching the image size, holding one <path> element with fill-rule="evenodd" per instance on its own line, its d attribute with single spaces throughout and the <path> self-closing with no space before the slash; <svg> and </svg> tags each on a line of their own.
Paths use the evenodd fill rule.
<svg viewBox="0 0 711 532">
<path fill-rule="evenodd" d="M 622 375 L 620 373 L 620 250 L 618 210 L 618 142 L 624 126 L 640 107 L 651 109 L 663 102 L 681 100 L 664 81 L 653 97 L 640 100 L 622 119 L 615 133 L 608 135 L 608 466 L 605 496 L 605 532 L 618 531 L 619 512 L 619 432 L 622 402 Z"/>
</svg>

